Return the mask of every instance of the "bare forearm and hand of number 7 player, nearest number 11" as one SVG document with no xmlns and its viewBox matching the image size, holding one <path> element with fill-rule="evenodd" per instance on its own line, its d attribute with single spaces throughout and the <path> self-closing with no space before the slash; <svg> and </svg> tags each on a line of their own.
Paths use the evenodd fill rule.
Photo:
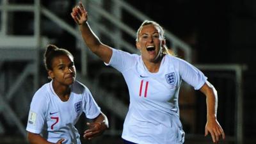
<svg viewBox="0 0 256 144">
<path fill-rule="evenodd" d="M 95 136 L 99 136 L 102 134 L 106 129 L 108 129 L 108 118 L 104 113 L 100 113 L 99 116 L 93 119 L 92 123 L 86 123 L 89 129 L 84 131 L 83 137 L 85 139 L 91 140 Z"/>
</svg>

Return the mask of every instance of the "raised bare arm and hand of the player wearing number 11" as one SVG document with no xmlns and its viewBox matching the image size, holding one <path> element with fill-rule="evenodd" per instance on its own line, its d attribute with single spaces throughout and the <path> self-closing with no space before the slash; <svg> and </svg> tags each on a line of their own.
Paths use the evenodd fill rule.
<svg viewBox="0 0 256 144">
<path fill-rule="evenodd" d="M 87 22 L 87 11 L 84 9 L 81 1 L 77 6 L 72 9 L 71 16 L 75 20 L 75 22 L 79 24 L 83 40 L 85 44 L 89 47 L 89 49 L 97 56 L 99 56 L 102 61 L 109 63 L 112 56 L 112 49 L 108 45 L 102 44 L 102 42 L 100 42 L 99 38 L 95 35 L 95 33 L 93 33 Z"/>
</svg>

